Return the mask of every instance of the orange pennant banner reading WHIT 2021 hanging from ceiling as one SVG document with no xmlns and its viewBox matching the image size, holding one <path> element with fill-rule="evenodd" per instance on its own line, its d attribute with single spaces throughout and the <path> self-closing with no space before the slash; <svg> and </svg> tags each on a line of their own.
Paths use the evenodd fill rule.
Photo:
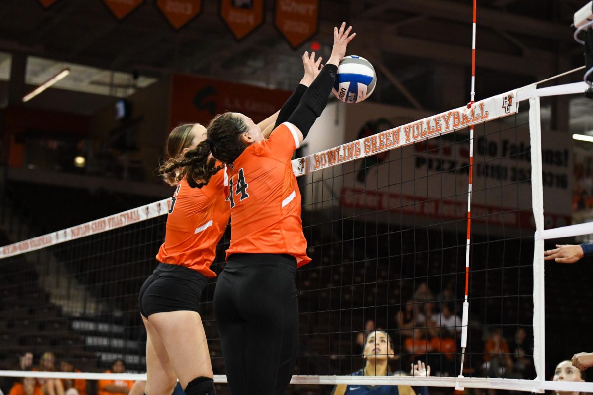
<svg viewBox="0 0 593 395">
<path fill-rule="evenodd" d="M 292 49 L 297 49 L 317 33 L 319 0 L 276 0 L 274 25 Z"/>
</svg>

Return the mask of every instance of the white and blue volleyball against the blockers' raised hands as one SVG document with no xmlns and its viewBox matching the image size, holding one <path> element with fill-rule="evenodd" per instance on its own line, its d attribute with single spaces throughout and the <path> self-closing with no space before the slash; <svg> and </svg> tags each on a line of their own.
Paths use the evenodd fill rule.
<svg viewBox="0 0 593 395">
<path fill-rule="evenodd" d="M 337 68 L 333 92 L 346 103 L 358 103 L 368 98 L 377 84 L 377 75 L 364 57 L 345 56 Z"/>
</svg>

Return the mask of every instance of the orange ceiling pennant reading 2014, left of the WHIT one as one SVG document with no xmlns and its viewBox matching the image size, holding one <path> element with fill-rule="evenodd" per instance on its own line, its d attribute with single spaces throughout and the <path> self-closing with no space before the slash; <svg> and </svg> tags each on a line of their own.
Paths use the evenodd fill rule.
<svg viewBox="0 0 593 395">
<path fill-rule="evenodd" d="M 221 0 L 220 14 L 237 40 L 263 24 L 264 0 Z"/>
</svg>

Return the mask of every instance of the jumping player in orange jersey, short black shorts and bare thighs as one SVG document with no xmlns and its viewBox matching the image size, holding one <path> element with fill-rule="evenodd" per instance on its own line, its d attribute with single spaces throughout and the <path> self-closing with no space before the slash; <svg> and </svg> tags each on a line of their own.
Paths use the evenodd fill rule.
<svg viewBox="0 0 593 395">
<path fill-rule="evenodd" d="M 282 119 L 283 114 L 297 107 L 307 86 L 313 82 L 313 69 L 319 62 L 315 65 L 314 54 L 309 57 L 305 52 L 303 63 L 305 75 L 297 90 L 282 110 L 258 125 L 264 136 L 269 136 L 278 117 Z M 209 266 L 228 224 L 230 208 L 225 201 L 228 188 L 225 171 L 215 172 L 208 185 L 190 188 L 196 182 L 184 176 L 183 155 L 205 138 L 206 129 L 199 124 L 183 125 L 171 131 L 166 146 L 168 160 L 160 169 L 165 182 L 177 189 L 167 217 L 165 242 L 157 255 L 157 269 L 139 294 L 147 334 L 145 392 L 148 395 L 171 394 L 177 378 L 187 395 L 215 393 L 197 307 L 206 279 L 216 275 Z"/>
</svg>

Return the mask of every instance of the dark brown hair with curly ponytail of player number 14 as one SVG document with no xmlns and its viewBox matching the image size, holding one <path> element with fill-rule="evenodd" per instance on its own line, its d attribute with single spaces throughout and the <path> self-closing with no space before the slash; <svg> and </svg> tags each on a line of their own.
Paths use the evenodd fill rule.
<svg viewBox="0 0 593 395">
<path fill-rule="evenodd" d="M 222 169 L 223 166 L 216 166 L 216 160 L 223 165 L 232 164 L 245 150 L 241 134 L 246 131 L 248 127 L 241 117 L 232 113 L 216 115 L 206 129 L 206 140 L 178 159 L 168 160 L 165 172 L 175 174 L 179 180 L 185 176 L 190 187 L 202 188 Z M 208 160 L 211 153 L 214 159 Z"/>
</svg>

